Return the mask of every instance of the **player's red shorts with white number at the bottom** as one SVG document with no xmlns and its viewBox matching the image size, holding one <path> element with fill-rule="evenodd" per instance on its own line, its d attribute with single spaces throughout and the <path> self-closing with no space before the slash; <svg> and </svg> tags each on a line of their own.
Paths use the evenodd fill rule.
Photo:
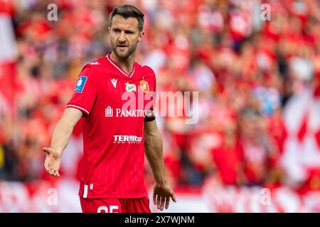
<svg viewBox="0 0 320 227">
<path fill-rule="evenodd" d="M 83 213 L 151 213 L 149 197 L 139 199 L 84 199 L 80 197 Z"/>
</svg>

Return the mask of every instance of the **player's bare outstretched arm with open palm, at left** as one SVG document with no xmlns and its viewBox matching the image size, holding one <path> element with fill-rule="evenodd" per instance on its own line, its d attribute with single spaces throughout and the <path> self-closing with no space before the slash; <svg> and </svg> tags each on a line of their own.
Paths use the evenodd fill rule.
<svg viewBox="0 0 320 227">
<path fill-rule="evenodd" d="M 67 108 L 63 112 L 63 116 L 58 121 L 51 138 L 51 148 L 43 148 L 47 153 L 44 167 L 49 175 L 60 177 L 59 169 L 63 150 L 68 145 L 73 128 L 82 116 L 82 112 L 78 109 Z"/>
</svg>

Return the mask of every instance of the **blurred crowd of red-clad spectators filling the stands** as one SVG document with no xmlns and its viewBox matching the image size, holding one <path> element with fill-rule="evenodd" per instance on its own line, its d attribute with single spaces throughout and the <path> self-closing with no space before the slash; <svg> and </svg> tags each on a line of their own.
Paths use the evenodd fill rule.
<svg viewBox="0 0 320 227">
<path fill-rule="evenodd" d="M 47 19 L 52 2 L 58 21 Z M 82 66 L 110 52 L 109 15 L 124 3 L 145 13 L 137 62 L 154 69 L 157 90 L 199 92 L 198 123 L 157 118 L 171 184 L 198 187 L 216 177 L 221 184 L 301 190 L 308 182 L 308 189 L 320 189 L 316 167 L 318 178 L 290 182 L 281 162 L 289 101 L 306 89 L 312 99 L 320 95 L 316 0 L 0 1 L 18 48 L 15 111 L 0 116 L 1 179 L 53 180 L 44 172 L 41 148 L 50 145 Z M 302 123 L 297 141 L 305 128 Z M 76 177 L 81 168 L 80 136 L 77 126 L 63 157 L 65 176 Z M 315 138 L 320 147 L 320 133 Z M 146 179 L 151 183 L 147 165 Z"/>
</svg>

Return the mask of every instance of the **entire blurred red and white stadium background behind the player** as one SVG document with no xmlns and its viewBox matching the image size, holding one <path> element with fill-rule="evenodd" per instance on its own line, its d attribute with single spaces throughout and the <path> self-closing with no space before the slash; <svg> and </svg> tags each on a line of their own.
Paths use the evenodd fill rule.
<svg viewBox="0 0 320 227">
<path fill-rule="evenodd" d="M 157 90 L 199 92 L 198 123 L 156 120 L 178 200 L 167 212 L 319 212 L 319 0 L 0 0 L 0 212 L 81 211 L 80 125 L 62 177 L 42 148 L 82 66 L 110 52 L 121 4 L 145 13 L 137 62 Z"/>
</svg>

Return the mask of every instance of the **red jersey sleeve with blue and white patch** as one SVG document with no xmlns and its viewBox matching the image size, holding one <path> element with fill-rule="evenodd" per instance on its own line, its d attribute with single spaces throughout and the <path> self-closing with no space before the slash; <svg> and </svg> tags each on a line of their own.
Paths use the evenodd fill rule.
<svg viewBox="0 0 320 227">
<path fill-rule="evenodd" d="M 97 86 L 95 82 L 95 70 L 90 66 L 85 66 L 80 72 L 75 92 L 67 104 L 67 108 L 75 108 L 89 115 L 97 96 Z"/>
</svg>

